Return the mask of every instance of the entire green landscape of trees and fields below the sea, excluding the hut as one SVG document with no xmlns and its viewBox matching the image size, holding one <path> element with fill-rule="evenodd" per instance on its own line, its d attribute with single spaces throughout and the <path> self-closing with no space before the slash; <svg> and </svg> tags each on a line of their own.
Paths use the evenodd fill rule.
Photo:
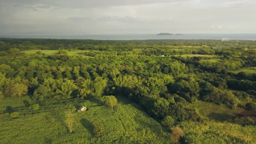
<svg viewBox="0 0 256 144">
<path fill-rule="evenodd" d="M 0 38 L 0 125 L 3 144 L 255 144 L 256 42 Z"/>
</svg>

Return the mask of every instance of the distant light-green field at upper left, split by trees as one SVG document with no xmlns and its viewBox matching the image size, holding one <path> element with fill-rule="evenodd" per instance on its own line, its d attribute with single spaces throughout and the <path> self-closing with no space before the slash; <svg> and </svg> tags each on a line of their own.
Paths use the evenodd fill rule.
<svg viewBox="0 0 256 144">
<path fill-rule="evenodd" d="M 34 54 L 38 51 L 41 51 L 42 53 L 46 55 L 53 55 L 58 52 L 58 50 L 25 50 L 22 52 L 25 52 L 26 54 Z M 89 50 L 74 50 L 74 51 L 68 51 L 69 56 L 77 55 L 79 52 L 89 52 Z"/>
</svg>

